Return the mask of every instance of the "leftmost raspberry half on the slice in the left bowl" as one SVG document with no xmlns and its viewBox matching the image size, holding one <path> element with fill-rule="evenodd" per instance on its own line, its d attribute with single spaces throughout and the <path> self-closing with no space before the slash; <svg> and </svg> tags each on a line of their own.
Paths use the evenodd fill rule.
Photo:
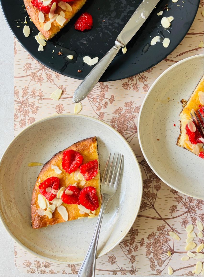
<svg viewBox="0 0 204 277">
<path fill-rule="evenodd" d="M 49 201 L 52 201 L 58 192 L 59 179 L 57 177 L 50 177 L 39 184 L 40 193 Z"/>
</svg>

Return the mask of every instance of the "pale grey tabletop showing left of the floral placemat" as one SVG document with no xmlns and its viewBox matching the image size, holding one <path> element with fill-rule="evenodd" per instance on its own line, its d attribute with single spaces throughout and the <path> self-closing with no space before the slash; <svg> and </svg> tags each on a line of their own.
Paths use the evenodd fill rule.
<svg viewBox="0 0 204 277">
<path fill-rule="evenodd" d="M 0 8 L 0 157 L 14 137 L 14 35 Z M 0 276 L 28 276 L 14 265 L 14 240 L 0 222 Z M 32 276 L 39 276 L 32 274 Z M 47 274 L 40 274 L 47 276 Z M 52 276 L 64 276 L 53 274 Z"/>
</svg>

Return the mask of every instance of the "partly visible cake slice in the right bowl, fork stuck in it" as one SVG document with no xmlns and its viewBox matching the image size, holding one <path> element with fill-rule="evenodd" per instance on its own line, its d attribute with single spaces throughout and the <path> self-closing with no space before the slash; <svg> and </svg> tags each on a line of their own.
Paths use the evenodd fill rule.
<svg viewBox="0 0 204 277">
<path fill-rule="evenodd" d="M 183 110 L 180 113 L 180 135 L 177 140 L 177 145 L 191 151 L 195 155 L 203 158 L 203 135 L 198 130 L 198 127 L 193 122 L 191 115 L 194 116 L 194 111 L 199 116 L 198 111 L 203 115 L 203 77 L 186 102 L 181 100 Z M 201 120 L 202 122 L 202 120 Z"/>
</svg>

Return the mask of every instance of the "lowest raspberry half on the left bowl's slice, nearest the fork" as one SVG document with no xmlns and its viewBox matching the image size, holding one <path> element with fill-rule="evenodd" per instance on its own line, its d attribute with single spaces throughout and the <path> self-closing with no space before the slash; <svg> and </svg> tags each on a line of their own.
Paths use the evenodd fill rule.
<svg viewBox="0 0 204 277">
<path fill-rule="evenodd" d="M 79 201 L 86 209 L 95 211 L 99 206 L 96 189 L 94 187 L 83 188 L 79 193 Z"/>
</svg>

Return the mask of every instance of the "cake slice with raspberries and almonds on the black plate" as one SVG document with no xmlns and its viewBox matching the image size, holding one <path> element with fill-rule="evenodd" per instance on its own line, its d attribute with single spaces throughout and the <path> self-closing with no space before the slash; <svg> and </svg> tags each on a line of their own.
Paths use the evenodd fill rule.
<svg viewBox="0 0 204 277">
<path fill-rule="evenodd" d="M 46 1 L 33 0 L 33 1 L 40 2 L 43 4 L 49 0 L 46 0 Z M 51 7 L 55 2 L 56 2 L 56 9 L 52 9 Z M 54 35 L 56 35 L 70 21 L 72 17 L 75 16 L 75 14 L 81 9 L 81 7 L 83 7 L 85 2 L 86 0 L 74 0 L 71 2 L 53 0 L 48 6 L 46 6 L 48 7 L 46 12 L 48 12 L 50 8 L 52 10 L 46 13 L 41 11 L 38 7 L 34 6 L 32 4 L 32 0 L 24 0 L 26 11 L 28 12 L 29 17 L 31 18 L 33 23 L 38 28 L 38 30 L 44 35 L 44 37 L 47 40 L 54 37 Z"/>
</svg>

